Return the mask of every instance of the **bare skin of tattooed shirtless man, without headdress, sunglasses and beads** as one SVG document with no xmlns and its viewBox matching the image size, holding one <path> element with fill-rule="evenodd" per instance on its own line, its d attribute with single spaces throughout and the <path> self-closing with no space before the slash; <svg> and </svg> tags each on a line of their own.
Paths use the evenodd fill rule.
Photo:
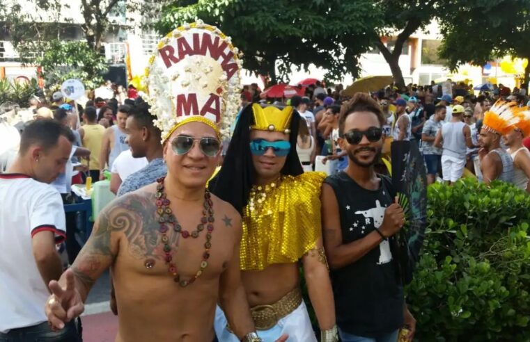
<svg viewBox="0 0 530 342">
<path fill-rule="evenodd" d="M 174 151 L 180 137 L 195 139 L 184 155 Z M 205 184 L 219 161 L 219 153 L 210 157 L 201 152 L 199 140 L 205 138 L 210 145 L 216 144 L 212 128 L 190 122 L 177 129 L 164 145 L 168 176 L 163 181 L 163 193 L 171 202 L 168 208 L 187 231 L 194 231 L 203 216 Z M 212 217 L 217 220 L 208 261 L 203 256 L 205 231 L 198 238 L 182 238 L 184 235 L 173 229 L 167 231 L 180 282 L 193 279 L 198 266 L 208 263 L 196 282 L 182 287 L 168 273 L 164 260 L 156 196 L 157 184 L 151 184 L 118 197 L 102 211 L 72 268 L 59 282 L 49 284 L 49 322 L 61 328 L 79 316 L 91 287 L 111 267 L 120 312 L 116 341 L 212 341 L 218 299 L 240 339 L 252 332 L 254 323 L 240 282 L 241 222 L 237 211 L 212 195 Z"/>
</svg>

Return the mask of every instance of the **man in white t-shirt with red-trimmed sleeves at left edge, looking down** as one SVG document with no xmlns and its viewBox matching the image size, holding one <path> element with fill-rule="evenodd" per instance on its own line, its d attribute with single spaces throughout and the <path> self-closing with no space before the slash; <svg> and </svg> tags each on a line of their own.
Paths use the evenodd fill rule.
<svg viewBox="0 0 530 342">
<path fill-rule="evenodd" d="M 42 310 L 48 283 L 63 272 L 56 243 L 66 236 L 63 201 L 49 183 L 65 172 L 74 140 L 59 122 L 36 120 L 0 174 L 0 341 L 80 341 L 74 323 L 54 332 Z"/>
</svg>

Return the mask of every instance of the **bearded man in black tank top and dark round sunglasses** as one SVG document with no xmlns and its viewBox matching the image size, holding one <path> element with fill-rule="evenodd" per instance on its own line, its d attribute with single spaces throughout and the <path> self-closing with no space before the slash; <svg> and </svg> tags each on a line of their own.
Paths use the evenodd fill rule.
<svg viewBox="0 0 530 342">
<path fill-rule="evenodd" d="M 390 179 L 376 174 L 385 117 L 368 95 L 343 106 L 339 144 L 348 168 L 322 186 L 322 229 L 331 268 L 336 323 L 343 342 L 396 342 L 405 325 L 412 341 L 416 320 L 408 311 L 390 250 L 403 227 Z"/>
</svg>

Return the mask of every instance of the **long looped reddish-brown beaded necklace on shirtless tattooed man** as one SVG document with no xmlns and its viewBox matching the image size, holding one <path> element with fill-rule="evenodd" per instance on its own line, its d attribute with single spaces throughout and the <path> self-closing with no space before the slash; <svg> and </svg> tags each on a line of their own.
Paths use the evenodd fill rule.
<svg viewBox="0 0 530 342">
<path fill-rule="evenodd" d="M 173 280 L 177 282 L 180 286 L 186 287 L 189 284 L 192 284 L 195 282 L 195 280 L 198 277 L 201 277 L 203 274 L 205 268 L 208 266 L 208 258 L 210 258 L 210 248 L 212 247 L 212 231 L 214 230 L 214 210 L 213 210 L 213 202 L 210 195 L 210 192 L 208 190 L 205 190 L 204 193 L 204 204 L 203 204 L 203 217 L 201 218 L 201 223 L 199 223 L 194 231 L 191 233 L 185 229 L 182 229 L 182 226 L 178 223 L 177 218 L 175 215 L 173 215 L 173 211 L 171 211 L 171 208 L 169 205 L 171 202 L 169 202 L 169 199 L 166 197 L 166 193 L 164 193 L 164 179 L 165 177 L 157 179 L 157 193 L 155 195 L 156 197 L 156 205 L 157 205 L 157 214 L 158 214 L 158 222 L 159 222 L 159 231 L 160 234 L 162 234 L 162 243 L 164 244 L 164 260 L 166 261 L 166 265 L 169 266 L 168 271 L 173 275 Z M 177 268 L 175 266 L 175 263 L 173 263 L 173 257 L 171 257 L 171 245 L 169 244 L 169 236 L 167 235 L 167 232 L 169 231 L 170 226 L 172 229 L 182 236 L 182 238 L 189 238 L 189 236 L 192 236 L 192 238 L 198 238 L 199 234 L 201 234 L 201 231 L 206 229 L 206 242 L 204 244 L 204 253 L 203 253 L 203 260 L 201 261 L 201 267 L 198 269 L 196 274 L 187 280 L 180 279 L 180 275 L 178 274 Z M 175 247 L 175 250 L 178 248 Z"/>
</svg>

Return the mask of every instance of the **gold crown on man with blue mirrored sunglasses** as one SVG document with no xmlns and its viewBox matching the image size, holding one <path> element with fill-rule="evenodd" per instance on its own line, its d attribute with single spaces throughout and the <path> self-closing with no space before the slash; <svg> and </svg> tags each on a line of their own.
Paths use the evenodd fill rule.
<svg viewBox="0 0 530 342">
<path fill-rule="evenodd" d="M 251 129 L 290 133 L 290 120 L 293 118 L 292 106 L 279 109 L 274 106 L 263 108 L 259 104 L 252 104 L 252 113 L 254 113 L 255 124 L 251 126 Z"/>
</svg>

